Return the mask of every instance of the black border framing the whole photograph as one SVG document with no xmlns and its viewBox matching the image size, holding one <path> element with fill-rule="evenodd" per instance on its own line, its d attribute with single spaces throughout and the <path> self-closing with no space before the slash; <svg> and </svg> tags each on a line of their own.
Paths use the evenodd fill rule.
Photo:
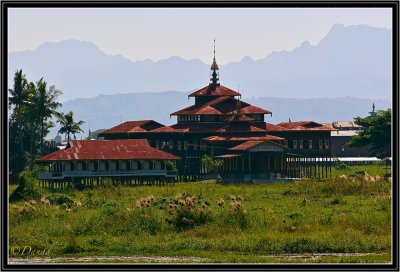
<svg viewBox="0 0 400 272">
<path fill-rule="evenodd" d="M 8 264 L 8 8 L 391 8 L 393 33 L 392 78 L 392 264 Z M 399 1 L 2 1 L 1 2 L 1 270 L 350 270 L 399 271 Z"/>
</svg>

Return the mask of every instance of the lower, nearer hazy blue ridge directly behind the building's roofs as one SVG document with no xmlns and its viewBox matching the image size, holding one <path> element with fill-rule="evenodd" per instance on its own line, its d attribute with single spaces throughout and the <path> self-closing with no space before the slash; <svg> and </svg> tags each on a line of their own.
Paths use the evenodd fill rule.
<svg viewBox="0 0 400 272">
<path fill-rule="evenodd" d="M 128 120 L 153 119 L 165 125 L 176 123 L 176 117 L 170 113 L 192 105 L 194 99 L 188 100 L 189 93 L 161 92 L 161 93 L 129 93 L 115 95 L 100 95 L 94 98 L 80 98 L 67 101 L 63 104 L 64 112 L 72 110 L 76 120 L 83 120 L 82 128 L 85 135 L 89 129 L 110 128 Z M 354 97 L 341 98 L 312 98 L 293 99 L 262 97 L 244 99 L 253 105 L 269 109 L 272 117 L 267 115 L 266 121 L 279 123 L 288 121 L 314 120 L 317 122 L 347 121 L 355 116 L 366 116 L 372 109 L 387 109 L 390 102 L 386 100 L 370 100 Z M 173 103 L 171 103 L 173 101 Z M 51 131 L 49 137 L 54 137 L 58 128 Z M 80 136 L 78 136 L 80 139 Z"/>
</svg>

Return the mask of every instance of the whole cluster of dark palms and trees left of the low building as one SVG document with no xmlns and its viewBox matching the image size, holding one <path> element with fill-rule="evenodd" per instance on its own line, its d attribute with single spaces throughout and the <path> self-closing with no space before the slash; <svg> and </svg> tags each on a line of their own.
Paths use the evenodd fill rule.
<svg viewBox="0 0 400 272">
<path fill-rule="evenodd" d="M 25 168 L 32 169 L 37 158 L 56 151 L 57 148 L 45 144 L 45 137 L 53 120 L 61 124 L 59 133 L 70 135 L 83 132 L 83 121 L 75 122 L 73 112 L 62 113 L 57 99 L 62 91 L 49 86 L 43 79 L 29 82 L 22 70 L 14 74 L 13 89 L 9 89 L 9 167 L 10 172 L 19 173 Z"/>
</svg>

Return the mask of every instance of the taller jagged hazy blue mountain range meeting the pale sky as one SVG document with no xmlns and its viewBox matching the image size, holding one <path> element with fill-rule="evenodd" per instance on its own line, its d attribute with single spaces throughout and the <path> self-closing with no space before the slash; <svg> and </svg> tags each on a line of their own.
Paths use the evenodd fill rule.
<svg viewBox="0 0 400 272">
<path fill-rule="evenodd" d="M 334 25 L 316 46 L 305 41 L 292 51 L 273 52 L 260 60 L 244 57 L 220 66 L 221 83 L 234 89 L 240 84 L 244 97 L 391 99 L 391 48 L 391 30 Z M 8 57 L 9 84 L 22 68 L 29 80 L 44 77 L 61 89 L 63 101 L 139 91 L 188 92 L 209 80 L 210 64 L 197 59 L 131 61 L 77 40 L 45 43 Z"/>
</svg>

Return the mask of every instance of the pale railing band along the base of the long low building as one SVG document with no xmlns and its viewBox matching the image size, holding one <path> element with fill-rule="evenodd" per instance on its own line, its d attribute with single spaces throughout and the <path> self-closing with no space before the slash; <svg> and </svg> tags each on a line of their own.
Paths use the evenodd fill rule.
<svg viewBox="0 0 400 272">
<path fill-rule="evenodd" d="M 175 177 L 176 172 L 167 170 L 131 171 L 62 171 L 39 173 L 39 179 L 63 179 L 66 177 L 124 177 L 124 176 L 166 176 Z"/>
</svg>

